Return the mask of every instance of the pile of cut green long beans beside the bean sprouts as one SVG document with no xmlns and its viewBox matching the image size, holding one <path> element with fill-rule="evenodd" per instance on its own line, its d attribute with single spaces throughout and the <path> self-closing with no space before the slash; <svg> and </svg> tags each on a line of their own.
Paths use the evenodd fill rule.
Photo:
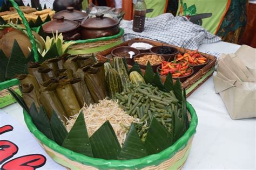
<svg viewBox="0 0 256 170">
<path fill-rule="evenodd" d="M 171 132 L 172 114 L 181 115 L 181 104 L 178 103 L 173 91 L 166 93 L 151 84 L 129 84 L 115 97 L 127 114 L 139 118 L 142 122 L 137 124 L 142 140 L 146 138 L 149 122 L 153 116 Z"/>
</svg>

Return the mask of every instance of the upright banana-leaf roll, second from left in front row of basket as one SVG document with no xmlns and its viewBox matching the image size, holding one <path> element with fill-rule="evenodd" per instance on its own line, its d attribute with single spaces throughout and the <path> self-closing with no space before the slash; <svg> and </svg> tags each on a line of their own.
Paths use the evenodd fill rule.
<svg viewBox="0 0 256 170">
<path fill-rule="evenodd" d="M 46 114 L 49 119 L 51 119 L 52 111 L 55 110 L 59 119 L 63 122 L 66 122 L 68 115 L 60 102 L 56 88 L 58 86 L 58 80 L 56 78 L 49 79 L 48 81 L 43 82 L 41 85 L 41 95 L 39 97 L 40 103 L 43 105 Z"/>
</svg>

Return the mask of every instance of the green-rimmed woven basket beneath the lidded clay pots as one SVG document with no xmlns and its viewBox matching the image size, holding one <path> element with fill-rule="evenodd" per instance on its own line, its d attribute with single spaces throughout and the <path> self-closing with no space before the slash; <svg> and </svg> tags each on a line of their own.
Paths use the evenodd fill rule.
<svg viewBox="0 0 256 170">
<path fill-rule="evenodd" d="M 69 48 L 69 54 L 90 54 L 104 51 L 123 42 L 124 30 L 120 28 L 118 34 L 109 37 L 101 37 L 88 40 L 76 40 Z"/>
</svg>

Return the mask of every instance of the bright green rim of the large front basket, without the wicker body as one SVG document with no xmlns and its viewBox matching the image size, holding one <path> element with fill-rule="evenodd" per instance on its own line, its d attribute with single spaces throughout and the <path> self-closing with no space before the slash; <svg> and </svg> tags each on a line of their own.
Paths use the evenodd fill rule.
<svg viewBox="0 0 256 170">
<path fill-rule="evenodd" d="M 187 102 L 187 109 L 191 114 L 191 123 L 190 128 L 185 132 L 185 134 L 179 138 L 176 143 L 172 146 L 166 148 L 164 151 L 161 151 L 157 154 L 148 155 L 144 158 L 140 159 L 131 159 L 131 160 L 104 160 L 99 158 L 91 158 L 86 155 L 76 153 L 68 150 L 62 146 L 59 146 L 55 141 L 48 139 L 41 131 L 39 131 L 35 124 L 33 124 L 32 119 L 28 112 L 23 110 L 24 120 L 28 129 L 34 136 L 40 140 L 44 145 L 50 147 L 53 151 L 56 151 L 60 154 L 65 155 L 65 157 L 80 162 L 85 165 L 93 166 L 99 169 L 110 169 L 110 168 L 144 168 L 146 166 L 159 165 L 161 162 L 170 159 L 174 154 L 176 154 L 179 150 L 185 147 L 193 137 L 193 134 L 196 133 L 196 128 L 198 124 L 198 118 L 196 115 L 196 111 L 192 107 L 190 103 Z"/>
</svg>

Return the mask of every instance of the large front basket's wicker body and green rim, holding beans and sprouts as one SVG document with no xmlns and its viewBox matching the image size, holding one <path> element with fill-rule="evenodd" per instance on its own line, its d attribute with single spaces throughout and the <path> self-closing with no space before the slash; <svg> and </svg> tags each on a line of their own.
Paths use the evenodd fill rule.
<svg viewBox="0 0 256 170">
<path fill-rule="evenodd" d="M 190 128 L 176 143 L 158 154 L 152 154 L 140 159 L 132 160 L 104 160 L 87 157 L 59 146 L 48 139 L 33 124 L 30 115 L 23 111 L 26 125 L 38 139 L 44 150 L 58 164 L 71 169 L 180 169 L 188 157 L 191 143 L 197 128 L 197 115 L 192 105 L 187 103 L 190 112 Z"/>
</svg>

